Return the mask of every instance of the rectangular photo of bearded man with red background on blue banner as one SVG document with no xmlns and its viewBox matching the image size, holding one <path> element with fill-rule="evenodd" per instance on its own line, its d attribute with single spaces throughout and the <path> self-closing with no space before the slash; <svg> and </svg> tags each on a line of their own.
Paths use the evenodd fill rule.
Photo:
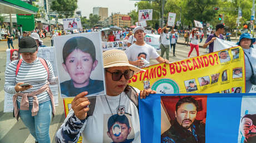
<svg viewBox="0 0 256 143">
<path fill-rule="evenodd" d="M 161 142 L 205 142 L 206 96 L 161 96 Z"/>
</svg>

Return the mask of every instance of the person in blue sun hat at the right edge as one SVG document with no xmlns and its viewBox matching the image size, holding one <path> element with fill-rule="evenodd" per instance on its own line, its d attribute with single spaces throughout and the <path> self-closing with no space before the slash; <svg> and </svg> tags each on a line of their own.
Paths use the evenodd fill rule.
<svg viewBox="0 0 256 143">
<path fill-rule="evenodd" d="M 256 75 L 256 49 L 253 48 L 255 38 L 250 37 L 249 33 L 240 35 L 239 42 L 237 43 L 244 50 L 244 63 L 245 63 L 245 93 L 249 93 L 256 82 L 253 76 Z M 254 83 L 255 84 L 255 83 Z"/>
</svg>

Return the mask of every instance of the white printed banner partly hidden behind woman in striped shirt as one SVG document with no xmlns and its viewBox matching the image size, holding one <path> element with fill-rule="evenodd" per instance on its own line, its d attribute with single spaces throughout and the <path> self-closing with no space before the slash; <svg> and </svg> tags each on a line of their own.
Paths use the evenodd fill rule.
<svg viewBox="0 0 256 143">
<path fill-rule="evenodd" d="M 11 60 L 16 60 L 16 59 L 12 58 L 15 54 L 11 55 L 11 53 L 14 53 L 14 52 L 11 52 L 10 49 L 6 49 L 6 68 L 8 67 Z M 55 74 L 55 76 L 57 76 L 57 65 L 56 65 L 55 48 L 54 47 L 40 47 L 40 48 L 38 48 L 37 57 L 49 60 L 52 64 L 53 73 Z M 19 57 L 17 57 L 17 58 L 19 58 Z M 51 88 L 52 93 L 53 93 L 55 106 L 58 106 L 58 84 L 50 85 L 50 88 Z M 13 111 L 12 97 L 13 97 L 13 94 L 9 94 L 9 93 L 4 92 L 4 106 L 3 106 L 3 112 L 4 113 L 8 113 L 8 112 Z"/>
</svg>

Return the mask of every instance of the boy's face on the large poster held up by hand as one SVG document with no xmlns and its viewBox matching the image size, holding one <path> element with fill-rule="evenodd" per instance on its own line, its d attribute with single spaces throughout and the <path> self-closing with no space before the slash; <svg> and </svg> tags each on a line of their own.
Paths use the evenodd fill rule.
<svg viewBox="0 0 256 143">
<path fill-rule="evenodd" d="M 91 72 L 97 64 L 98 61 L 93 62 L 90 54 L 75 49 L 66 58 L 66 64 L 62 65 L 73 80 L 75 88 L 82 88 L 89 84 Z"/>
</svg>

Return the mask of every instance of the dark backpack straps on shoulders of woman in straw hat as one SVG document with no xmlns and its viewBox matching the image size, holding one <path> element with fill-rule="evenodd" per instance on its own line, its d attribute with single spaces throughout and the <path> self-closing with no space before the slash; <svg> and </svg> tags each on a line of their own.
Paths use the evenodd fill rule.
<svg viewBox="0 0 256 143">
<path fill-rule="evenodd" d="M 135 89 L 132 88 L 132 86 L 127 85 L 127 88 L 125 89 L 125 94 L 132 101 L 132 103 L 134 103 L 134 105 L 137 107 L 139 111 L 139 101 L 138 101 L 138 97 L 136 95 Z M 95 109 L 95 104 L 96 104 L 96 98 L 91 98 L 89 99 L 89 101 L 91 104 L 89 105 L 90 110 L 87 112 L 86 120 L 89 116 L 92 116 L 93 114 L 93 111 Z"/>
</svg>

